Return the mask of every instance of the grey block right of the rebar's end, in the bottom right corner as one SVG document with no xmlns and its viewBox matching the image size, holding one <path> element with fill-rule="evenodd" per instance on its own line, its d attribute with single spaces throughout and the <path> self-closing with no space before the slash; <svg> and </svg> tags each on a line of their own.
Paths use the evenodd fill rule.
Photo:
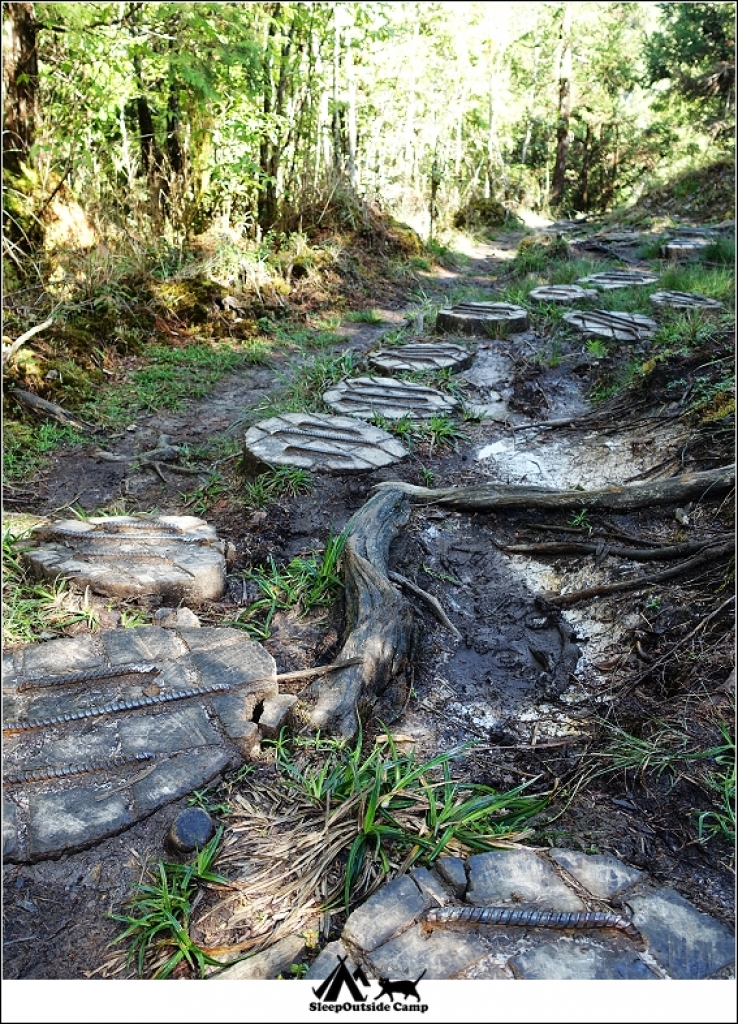
<svg viewBox="0 0 738 1024">
<path fill-rule="evenodd" d="M 700 913 L 674 890 L 634 896 L 627 903 L 649 951 L 672 978 L 697 981 L 734 962 L 730 929 Z"/>
</svg>

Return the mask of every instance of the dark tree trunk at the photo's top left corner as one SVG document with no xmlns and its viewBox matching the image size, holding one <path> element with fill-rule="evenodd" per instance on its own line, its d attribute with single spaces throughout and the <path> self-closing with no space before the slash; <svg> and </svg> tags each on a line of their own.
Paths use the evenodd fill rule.
<svg viewBox="0 0 738 1024">
<path fill-rule="evenodd" d="M 32 3 L 3 4 L 3 167 L 28 163 L 38 117 L 38 25 Z"/>
</svg>

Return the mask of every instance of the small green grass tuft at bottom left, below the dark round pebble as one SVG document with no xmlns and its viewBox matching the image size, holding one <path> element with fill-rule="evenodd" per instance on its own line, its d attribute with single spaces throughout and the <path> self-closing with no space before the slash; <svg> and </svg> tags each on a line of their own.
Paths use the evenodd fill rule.
<svg viewBox="0 0 738 1024">
<path fill-rule="evenodd" d="M 126 925 L 114 944 L 128 941 L 126 963 L 135 959 L 140 977 L 143 977 L 147 958 L 154 961 L 154 978 L 168 978 L 182 961 L 192 970 L 197 968 L 201 978 L 205 977 L 207 965 L 220 965 L 220 961 L 213 959 L 192 942 L 189 919 L 201 887 L 229 884 L 212 869 L 222 838 L 221 825 L 191 864 L 160 860 L 150 874 L 150 882 L 139 885 L 129 900 L 131 912 L 111 914 L 114 921 Z M 166 956 L 163 964 L 159 963 L 160 954 Z"/>
</svg>

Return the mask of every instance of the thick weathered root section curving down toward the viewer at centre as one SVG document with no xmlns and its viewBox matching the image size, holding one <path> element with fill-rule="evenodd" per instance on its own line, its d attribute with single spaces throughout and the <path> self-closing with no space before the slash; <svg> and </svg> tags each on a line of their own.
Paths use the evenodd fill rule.
<svg viewBox="0 0 738 1024">
<path fill-rule="evenodd" d="M 359 708 L 372 707 L 409 658 L 413 610 L 388 579 L 390 544 L 408 518 L 407 499 L 393 488 L 370 499 L 349 524 L 343 554 L 347 632 L 336 660 L 354 664 L 311 688 L 315 729 L 353 737 Z"/>
</svg>

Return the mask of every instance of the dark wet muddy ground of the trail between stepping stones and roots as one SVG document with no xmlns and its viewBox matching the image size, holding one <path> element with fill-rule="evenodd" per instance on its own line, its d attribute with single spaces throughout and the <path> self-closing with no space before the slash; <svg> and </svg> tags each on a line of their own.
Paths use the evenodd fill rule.
<svg viewBox="0 0 738 1024">
<path fill-rule="evenodd" d="M 478 246 L 463 267 L 419 273 L 423 293 L 439 303 L 461 287 L 474 285 L 494 299 L 517 242 L 511 234 L 504 242 Z M 400 295 L 378 308 L 381 324 L 344 324 L 340 330 L 348 341 L 338 348 L 365 352 L 418 308 L 417 302 L 403 301 Z M 552 366 L 556 360 L 535 358 L 540 344 L 533 332 L 480 343 L 474 367 L 464 375 L 466 398 L 496 402 L 497 408 L 481 422 L 462 423 L 466 437 L 455 449 L 431 451 L 420 444 L 408 459 L 380 472 L 320 477 L 312 494 L 284 500 L 266 514 L 242 500 L 235 462 L 222 465 L 221 472 L 232 483 L 205 517 L 235 545 L 236 561 L 223 600 L 194 609 L 203 625 L 232 620 L 253 600 L 245 570 L 264 564 L 269 556 L 280 563 L 320 548 L 329 531 L 340 530 L 381 480 L 424 484 L 432 472 L 434 486 L 494 479 L 588 487 L 626 482 L 668 464 L 670 457 L 679 458 L 685 444 L 679 420 L 640 425 L 607 418 L 588 421 L 593 411 L 588 385 L 597 372 L 592 356 L 582 350 Z M 289 360 L 233 374 L 203 401 L 173 414 L 140 416 L 133 429 L 96 440 L 107 451 L 130 454 L 153 447 L 161 434 L 190 445 L 228 431 L 237 434 L 245 430 L 249 411 L 276 386 L 276 374 L 286 372 Z M 574 426 L 527 429 L 541 420 L 567 418 Z M 584 425 L 577 427 L 577 422 Z M 164 473 L 167 483 L 151 471 L 95 460 L 88 451 L 61 452 L 32 485 L 14 493 L 13 507 L 21 502 L 24 511 L 40 515 L 58 515 L 74 504 L 86 511 L 198 514 L 182 494 L 191 495 L 201 481 L 168 472 L 166 466 Z M 730 528 L 730 509 L 718 503 L 688 511 L 700 536 Z M 598 514 L 589 525 L 603 545 L 628 536 L 664 541 L 679 535 L 674 516 L 674 509 Z M 550 600 L 560 589 L 602 583 L 612 578 L 613 569 L 615 575 L 643 570 L 604 558 L 598 562 L 591 555 L 536 559 L 503 550 L 515 543 L 581 539 L 581 528 L 572 526 L 570 518 L 553 512 L 414 509 L 393 545 L 391 566 L 439 599 L 461 639 L 426 606 L 418 605 L 419 630 L 407 678 L 399 698 L 395 694 L 394 702 L 376 709 L 377 717 L 393 732 L 413 737 L 424 755 L 476 741 L 466 761 L 476 781 L 510 788 L 527 780 L 532 792 L 558 792 L 561 796 L 552 805 L 556 814 L 549 809 L 541 815 L 532 842 L 611 852 L 672 886 L 699 909 L 730 923 L 732 851 L 721 840 L 695 842 L 691 822 L 703 799 L 699 786 L 689 778 L 680 778 L 675 786 L 667 774 L 643 784 L 634 773 L 621 773 L 597 778 L 577 792 L 577 780 L 593 763 L 588 758 L 596 749 L 599 720 L 614 711 L 625 727 L 644 708 L 655 717 L 667 717 L 674 673 L 663 669 L 649 675 L 648 670 L 672 635 L 685 636 L 699 624 L 705 597 L 699 587 L 685 586 L 659 591 L 660 603 L 652 601 L 650 610 L 648 600 L 654 595 L 648 591 L 560 609 Z M 151 610 L 141 609 L 144 615 Z M 120 609 L 101 605 L 101 613 L 107 627 L 120 621 Z M 727 613 L 732 615 L 732 609 Z M 277 615 L 265 642 L 277 671 L 330 662 L 340 647 L 342 616 L 342 607 L 332 609 L 328 617 L 324 612 L 307 620 Z M 730 649 L 705 652 L 700 685 L 718 706 L 730 700 L 720 684 L 730 671 L 731 656 Z M 702 706 L 705 692 L 696 693 L 695 706 Z M 370 739 L 378 728 L 377 722 L 367 725 Z M 268 774 L 268 764 L 264 771 Z M 6 865 L 4 977 L 135 977 L 133 968 L 125 968 L 110 946 L 121 926 L 107 914 L 120 912 L 146 865 L 165 855 L 165 834 L 183 806 L 186 801 L 166 807 L 85 852 L 34 865 Z"/>
</svg>

